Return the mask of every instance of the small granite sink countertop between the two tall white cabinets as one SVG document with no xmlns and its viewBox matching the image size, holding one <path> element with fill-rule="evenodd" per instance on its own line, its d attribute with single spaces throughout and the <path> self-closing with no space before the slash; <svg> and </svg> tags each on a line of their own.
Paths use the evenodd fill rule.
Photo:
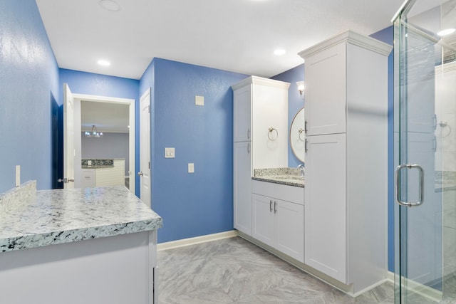
<svg viewBox="0 0 456 304">
<path fill-rule="evenodd" d="M 304 177 L 297 168 L 254 169 L 253 180 L 304 188 Z"/>
</svg>

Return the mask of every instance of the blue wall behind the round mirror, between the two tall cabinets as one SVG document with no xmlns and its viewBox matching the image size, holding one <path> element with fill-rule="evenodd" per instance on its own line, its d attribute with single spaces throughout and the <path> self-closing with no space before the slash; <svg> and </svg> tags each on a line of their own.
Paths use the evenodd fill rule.
<svg viewBox="0 0 456 304">
<path fill-rule="evenodd" d="M 286 81 L 290 83 L 290 88 L 288 89 L 288 130 L 290 130 L 291 122 L 293 122 L 294 115 L 304 107 L 304 100 L 299 95 L 297 81 L 304 80 L 304 63 L 292 68 L 291 70 L 286 70 L 284 73 L 275 75 L 271 79 Z M 299 161 L 296 156 L 294 156 L 293 151 L 291 151 L 290 141 L 288 142 L 288 167 L 297 167 L 302 162 Z"/>
</svg>

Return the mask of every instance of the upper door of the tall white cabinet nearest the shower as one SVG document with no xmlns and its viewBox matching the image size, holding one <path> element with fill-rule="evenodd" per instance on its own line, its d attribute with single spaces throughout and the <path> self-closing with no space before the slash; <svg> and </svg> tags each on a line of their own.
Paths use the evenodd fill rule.
<svg viewBox="0 0 456 304">
<path fill-rule="evenodd" d="M 307 135 L 346 132 L 346 43 L 306 58 Z"/>
</svg>

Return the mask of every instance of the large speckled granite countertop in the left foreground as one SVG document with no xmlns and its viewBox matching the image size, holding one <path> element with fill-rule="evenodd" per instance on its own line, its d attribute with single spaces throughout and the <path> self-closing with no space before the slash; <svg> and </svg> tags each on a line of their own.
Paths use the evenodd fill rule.
<svg viewBox="0 0 456 304">
<path fill-rule="evenodd" d="M 0 213 L 0 252 L 159 229 L 127 188 L 41 190 Z"/>
</svg>

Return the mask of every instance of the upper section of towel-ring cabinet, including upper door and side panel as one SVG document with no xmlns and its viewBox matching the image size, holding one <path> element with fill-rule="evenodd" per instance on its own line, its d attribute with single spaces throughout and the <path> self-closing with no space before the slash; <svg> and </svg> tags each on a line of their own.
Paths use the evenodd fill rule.
<svg viewBox="0 0 456 304">
<path fill-rule="evenodd" d="M 288 166 L 290 84 L 250 76 L 233 89 L 233 141 L 252 142 L 254 169 Z"/>
</svg>

